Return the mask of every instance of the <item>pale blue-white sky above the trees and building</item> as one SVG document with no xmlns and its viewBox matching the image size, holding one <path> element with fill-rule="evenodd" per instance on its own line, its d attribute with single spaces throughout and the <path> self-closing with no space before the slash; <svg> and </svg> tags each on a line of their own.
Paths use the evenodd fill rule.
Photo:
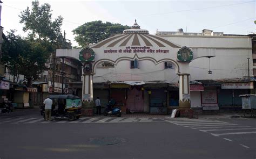
<svg viewBox="0 0 256 159">
<path fill-rule="evenodd" d="M 22 31 L 18 15 L 27 7 L 28 0 L 2 0 L 2 26 L 4 33 L 16 29 L 17 34 L 26 36 Z M 72 46 L 78 46 L 72 30 L 84 23 L 95 20 L 122 25 L 133 25 L 134 20 L 140 28 L 150 34 L 156 31 L 177 31 L 200 33 L 203 29 L 224 34 L 256 33 L 254 1 L 77 1 L 51 0 L 39 1 L 51 5 L 52 18 L 64 18 L 62 32 Z"/>
</svg>

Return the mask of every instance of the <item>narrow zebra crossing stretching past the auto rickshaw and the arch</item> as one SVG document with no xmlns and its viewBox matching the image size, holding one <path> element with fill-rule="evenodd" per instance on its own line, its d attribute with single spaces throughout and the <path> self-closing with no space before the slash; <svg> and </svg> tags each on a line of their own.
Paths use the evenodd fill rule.
<svg viewBox="0 0 256 159">
<path fill-rule="evenodd" d="M 2 118 L 0 119 L 1 124 L 85 124 L 85 123 L 125 123 L 125 122 L 159 122 L 163 121 L 159 118 L 125 118 L 125 117 L 83 117 L 78 120 L 53 120 L 45 121 L 41 118 L 32 117 L 16 117 L 16 118 Z"/>
</svg>

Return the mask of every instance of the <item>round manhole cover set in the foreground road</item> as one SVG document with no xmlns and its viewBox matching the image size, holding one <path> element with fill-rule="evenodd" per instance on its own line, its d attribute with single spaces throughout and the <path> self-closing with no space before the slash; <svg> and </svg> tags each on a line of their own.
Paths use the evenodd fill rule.
<svg viewBox="0 0 256 159">
<path fill-rule="evenodd" d="M 103 138 L 91 138 L 90 142 L 93 144 L 99 144 L 99 145 L 113 145 L 113 144 L 126 142 L 126 139 L 125 138 L 103 137 Z"/>
</svg>

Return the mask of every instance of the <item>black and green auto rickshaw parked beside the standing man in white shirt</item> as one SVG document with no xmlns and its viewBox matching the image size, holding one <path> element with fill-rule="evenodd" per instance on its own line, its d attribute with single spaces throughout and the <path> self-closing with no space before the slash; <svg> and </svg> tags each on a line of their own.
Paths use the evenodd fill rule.
<svg viewBox="0 0 256 159">
<path fill-rule="evenodd" d="M 78 96 L 73 95 L 50 95 L 52 99 L 52 117 L 54 119 L 76 120 L 80 118 L 82 101 Z M 44 114 L 44 106 L 41 106 L 41 115 Z"/>
</svg>

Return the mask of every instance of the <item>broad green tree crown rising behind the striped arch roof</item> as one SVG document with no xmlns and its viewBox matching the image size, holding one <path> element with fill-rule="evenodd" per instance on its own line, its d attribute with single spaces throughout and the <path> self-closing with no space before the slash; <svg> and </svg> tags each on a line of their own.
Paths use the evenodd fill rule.
<svg viewBox="0 0 256 159">
<path fill-rule="evenodd" d="M 75 40 L 77 43 L 85 47 L 89 44 L 96 44 L 114 34 L 121 34 L 124 30 L 130 28 L 127 25 L 113 24 L 110 22 L 102 23 L 102 21 L 91 21 L 78 26 L 73 30 L 76 34 Z"/>
</svg>

